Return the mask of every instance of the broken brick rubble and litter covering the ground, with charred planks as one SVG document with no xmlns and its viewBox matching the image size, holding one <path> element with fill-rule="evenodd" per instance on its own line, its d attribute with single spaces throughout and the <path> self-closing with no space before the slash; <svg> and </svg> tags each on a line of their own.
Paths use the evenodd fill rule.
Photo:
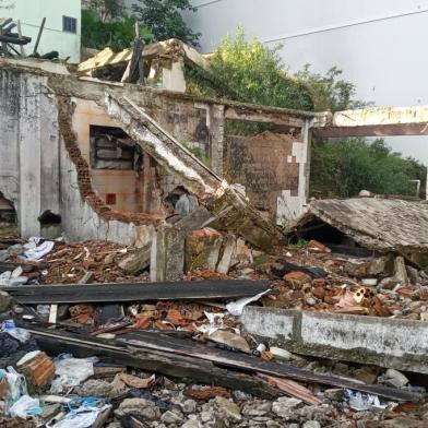
<svg viewBox="0 0 428 428">
<path fill-rule="evenodd" d="M 211 241 L 203 251 L 198 236 Z M 246 333 L 239 321 L 247 305 L 425 320 L 423 271 L 402 257 L 357 259 L 313 240 L 274 255 L 239 240 L 219 272 L 230 235 L 215 236 L 192 235 L 187 262 L 197 268 L 182 288 L 151 288 L 146 269 L 127 273 L 123 261 L 141 253 L 134 248 L 48 240 L 5 246 L 1 426 L 425 426 L 423 377 L 297 355 Z M 207 269 L 211 246 L 218 253 Z M 91 287 L 99 287 L 95 299 Z M 130 296 L 121 287 L 130 287 Z M 148 297 L 133 299 L 132 287 Z M 57 301 L 60 295 L 70 302 Z"/>
</svg>

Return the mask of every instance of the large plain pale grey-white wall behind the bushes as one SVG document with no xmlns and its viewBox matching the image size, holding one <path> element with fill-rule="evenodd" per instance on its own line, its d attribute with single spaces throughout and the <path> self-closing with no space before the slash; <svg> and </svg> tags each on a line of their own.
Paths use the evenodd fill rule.
<svg viewBox="0 0 428 428">
<path fill-rule="evenodd" d="M 332 66 L 357 86 L 357 98 L 376 105 L 428 105 L 428 0 L 193 0 L 187 14 L 211 51 L 241 25 L 281 55 L 292 71 L 306 63 Z M 405 155 L 428 159 L 428 139 L 388 142 Z"/>
</svg>

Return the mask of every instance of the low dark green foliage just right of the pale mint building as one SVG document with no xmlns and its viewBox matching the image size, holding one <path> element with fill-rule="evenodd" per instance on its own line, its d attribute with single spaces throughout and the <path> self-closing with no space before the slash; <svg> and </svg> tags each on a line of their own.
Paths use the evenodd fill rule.
<svg viewBox="0 0 428 428">
<path fill-rule="evenodd" d="M 135 38 L 135 20 L 123 17 L 121 21 L 103 22 L 97 12 L 82 11 L 82 45 L 93 49 L 110 47 L 115 51 L 129 48 Z M 140 25 L 140 35 L 148 40 L 152 33 Z"/>
</svg>

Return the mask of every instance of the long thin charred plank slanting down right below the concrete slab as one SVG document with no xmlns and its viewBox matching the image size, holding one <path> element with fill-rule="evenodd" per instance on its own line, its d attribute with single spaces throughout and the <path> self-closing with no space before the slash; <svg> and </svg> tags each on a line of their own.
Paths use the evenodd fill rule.
<svg viewBox="0 0 428 428">
<path fill-rule="evenodd" d="M 231 353 L 219 348 L 209 347 L 193 341 L 186 341 L 170 336 L 166 337 L 158 333 L 140 331 L 138 333 L 124 335 L 123 338 L 119 338 L 118 342 L 145 349 L 169 352 L 176 355 L 195 357 L 211 361 L 221 367 L 246 370 L 254 373 L 259 372 L 278 378 L 293 379 L 300 382 L 346 388 L 400 402 L 419 402 L 423 399 L 420 394 L 408 391 L 385 388 L 377 384 L 366 384 L 331 374 L 314 373 L 312 371 L 298 369 L 285 364 L 264 361 L 260 358 L 248 356 L 242 353 Z"/>
</svg>

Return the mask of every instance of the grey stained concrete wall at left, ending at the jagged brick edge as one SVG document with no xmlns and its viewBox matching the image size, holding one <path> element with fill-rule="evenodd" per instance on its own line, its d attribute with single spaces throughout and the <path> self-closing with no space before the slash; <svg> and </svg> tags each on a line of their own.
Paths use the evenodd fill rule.
<svg viewBox="0 0 428 428">
<path fill-rule="evenodd" d="M 46 78 L 0 69 L 0 192 L 14 203 L 23 238 L 40 236 L 37 217 L 51 210 L 72 240 L 151 240 L 153 226 L 104 219 L 82 198 Z"/>
</svg>

